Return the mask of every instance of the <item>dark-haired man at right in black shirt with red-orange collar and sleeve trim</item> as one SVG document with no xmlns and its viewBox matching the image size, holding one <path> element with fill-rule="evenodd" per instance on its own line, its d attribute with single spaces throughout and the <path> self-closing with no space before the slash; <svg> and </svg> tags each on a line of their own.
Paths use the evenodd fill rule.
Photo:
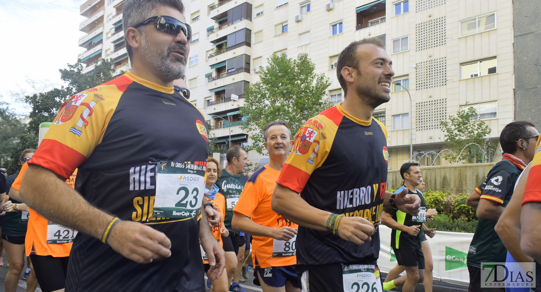
<svg viewBox="0 0 541 292">
<path fill-rule="evenodd" d="M 500 145 L 504 152 L 502 161 L 492 167 L 483 184 L 466 200 L 466 205 L 477 207 L 479 217 L 468 252 L 470 292 L 487 289 L 481 288 L 481 263 L 506 260 L 507 250 L 494 227 L 511 200 L 520 173 L 533 159 L 537 137 L 539 132 L 531 123 L 514 121 L 507 124 L 500 134 Z M 496 291 L 494 289 L 489 288 Z M 505 290 L 503 287 L 498 289 Z"/>
</svg>

